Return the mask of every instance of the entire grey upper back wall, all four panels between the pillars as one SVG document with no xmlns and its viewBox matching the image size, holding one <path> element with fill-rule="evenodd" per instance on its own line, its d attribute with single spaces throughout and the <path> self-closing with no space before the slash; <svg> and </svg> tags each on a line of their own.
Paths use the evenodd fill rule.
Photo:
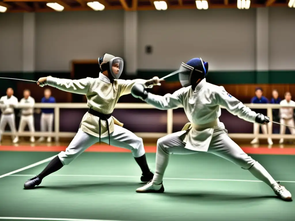
<svg viewBox="0 0 295 221">
<path fill-rule="evenodd" d="M 295 9 L 269 8 L 271 70 L 295 70 Z M 37 71 L 69 71 L 73 59 L 124 57 L 124 11 L 37 13 Z M 0 71 L 22 71 L 22 13 L 0 13 Z M 255 70 L 255 9 L 138 11 L 141 70 L 173 70 L 201 56 L 210 70 Z M 106 33 L 106 35 L 102 34 Z M 145 46 L 153 54 L 145 54 Z"/>
</svg>

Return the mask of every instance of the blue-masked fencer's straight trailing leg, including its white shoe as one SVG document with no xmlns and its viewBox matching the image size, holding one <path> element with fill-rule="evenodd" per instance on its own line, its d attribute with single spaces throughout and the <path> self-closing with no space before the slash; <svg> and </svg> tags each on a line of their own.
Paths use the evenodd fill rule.
<svg viewBox="0 0 295 221">
<path fill-rule="evenodd" d="M 226 133 L 212 138 L 208 152 L 249 170 L 253 176 L 270 186 L 276 195 L 284 200 L 291 199 L 290 192 L 279 185 L 263 166 L 246 154 Z"/>
</svg>

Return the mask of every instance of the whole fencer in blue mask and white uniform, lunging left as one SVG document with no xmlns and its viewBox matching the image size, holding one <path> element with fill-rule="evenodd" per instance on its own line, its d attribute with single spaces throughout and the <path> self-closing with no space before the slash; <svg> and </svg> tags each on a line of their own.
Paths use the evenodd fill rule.
<svg viewBox="0 0 295 221">
<path fill-rule="evenodd" d="M 268 184 L 281 199 L 291 200 L 291 193 L 228 136 L 224 124 L 219 121 L 220 106 L 252 123 L 268 123 L 269 118 L 250 110 L 227 93 L 224 87 L 208 83 L 207 74 L 208 63 L 201 58 L 193 58 L 181 64 L 178 75 L 183 88 L 173 94 L 159 96 L 148 93 L 139 84 L 131 88 L 131 94 L 135 98 L 140 98 L 160 110 L 183 108 L 189 119 L 182 131 L 168 134 L 158 140 L 155 175 L 148 184 L 138 188 L 136 192 L 164 192 L 163 176 L 170 154 L 208 152 L 248 170 L 257 179 Z M 212 163 L 214 162 L 208 162 Z"/>
</svg>

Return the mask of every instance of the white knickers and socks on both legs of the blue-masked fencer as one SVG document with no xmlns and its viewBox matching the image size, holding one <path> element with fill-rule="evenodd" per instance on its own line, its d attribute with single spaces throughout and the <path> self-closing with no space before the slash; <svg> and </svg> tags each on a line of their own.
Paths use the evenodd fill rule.
<svg viewBox="0 0 295 221">
<path fill-rule="evenodd" d="M 183 131 L 172 133 L 160 138 L 157 142 L 156 171 L 153 178 L 155 184 L 163 180 L 164 172 L 168 166 L 170 154 L 195 154 L 198 151 L 186 149 L 183 138 L 179 136 Z M 268 184 L 276 184 L 276 181 L 257 161 L 248 156 L 224 131 L 212 137 L 208 153 L 215 154 L 232 163 L 249 170 L 256 178 Z"/>
</svg>

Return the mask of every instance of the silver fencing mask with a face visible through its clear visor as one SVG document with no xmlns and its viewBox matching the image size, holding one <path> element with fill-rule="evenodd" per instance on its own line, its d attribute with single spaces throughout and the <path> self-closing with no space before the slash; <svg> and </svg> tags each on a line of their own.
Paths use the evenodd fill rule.
<svg viewBox="0 0 295 221">
<path fill-rule="evenodd" d="M 101 71 L 108 71 L 110 79 L 119 79 L 123 72 L 124 61 L 121 57 L 104 54 L 98 58 Z"/>
</svg>

